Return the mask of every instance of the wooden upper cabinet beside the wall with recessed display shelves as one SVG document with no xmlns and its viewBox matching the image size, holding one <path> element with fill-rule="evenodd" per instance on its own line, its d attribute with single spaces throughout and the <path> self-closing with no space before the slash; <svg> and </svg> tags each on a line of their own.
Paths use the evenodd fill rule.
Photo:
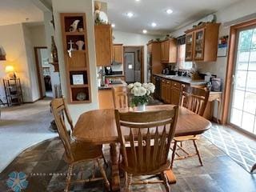
<svg viewBox="0 0 256 192">
<path fill-rule="evenodd" d="M 110 66 L 112 63 L 113 44 L 111 25 L 94 26 L 96 66 Z"/>
</svg>

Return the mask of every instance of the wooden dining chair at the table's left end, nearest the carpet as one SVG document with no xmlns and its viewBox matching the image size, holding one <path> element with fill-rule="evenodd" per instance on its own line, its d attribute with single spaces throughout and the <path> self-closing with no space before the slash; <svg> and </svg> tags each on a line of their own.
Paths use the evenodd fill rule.
<svg viewBox="0 0 256 192">
<path fill-rule="evenodd" d="M 66 129 L 66 125 L 63 118 L 65 115 L 67 118 L 67 122 L 70 124 L 70 127 L 73 127 L 72 120 L 70 118 L 70 113 L 66 107 L 65 98 L 54 98 L 54 100 L 50 103 L 50 106 L 54 114 L 54 121 L 58 128 L 59 137 L 61 138 L 62 144 L 65 148 L 65 161 L 66 163 L 69 164 L 69 168 L 66 176 L 66 188 L 64 191 L 66 192 L 69 191 L 69 187 L 71 183 L 93 182 L 93 181 L 98 181 L 102 179 L 105 182 L 106 189 L 110 190 L 110 182 L 106 178 L 106 172 L 103 169 L 102 163 L 100 162 L 100 158 L 103 158 L 102 146 L 101 145 L 92 146 L 88 143 L 78 142 L 74 140 L 74 138 L 71 138 L 68 130 Z M 98 164 L 102 177 L 95 178 L 95 166 L 94 166 L 92 178 L 71 181 L 74 166 L 80 162 L 88 162 L 88 161 L 93 161 L 94 165 Z"/>
</svg>

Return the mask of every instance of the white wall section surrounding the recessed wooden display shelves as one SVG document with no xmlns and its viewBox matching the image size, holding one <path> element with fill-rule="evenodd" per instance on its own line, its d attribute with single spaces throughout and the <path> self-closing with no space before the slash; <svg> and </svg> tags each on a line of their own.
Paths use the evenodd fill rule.
<svg viewBox="0 0 256 192">
<path fill-rule="evenodd" d="M 77 121 L 80 114 L 87 110 L 98 109 L 98 86 L 96 77 L 96 54 L 95 54 L 95 43 L 94 43 L 94 14 L 93 7 L 94 2 L 91 0 L 53 0 L 53 13 L 55 22 L 55 41 L 58 48 L 58 60 L 60 66 L 60 77 L 62 94 L 66 96 L 66 71 L 63 55 L 62 46 L 62 30 L 60 13 L 86 13 L 86 26 L 87 26 L 87 41 L 89 49 L 89 65 L 90 65 L 90 86 L 91 86 L 91 97 L 92 102 L 89 104 L 69 105 L 70 114 Z"/>
</svg>

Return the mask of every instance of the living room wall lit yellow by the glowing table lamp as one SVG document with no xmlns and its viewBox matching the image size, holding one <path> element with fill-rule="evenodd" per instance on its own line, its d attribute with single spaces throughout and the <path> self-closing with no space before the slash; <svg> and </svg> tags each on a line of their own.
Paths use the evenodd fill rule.
<svg viewBox="0 0 256 192">
<path fill-rule="evenodd" d="M 6 50 L 6 61 L 0 62 L 0 94 L 5 98 L 2 78 L 6 78 L 5 67 L 14 66 L 18 78 L 22 82 L 22 95 L 24 102 L 32 102 L 30 90 L 30 73 L 27 62 L 25 39 L 22 24 L 0 26 L 0 43 Z M 5 99 L 4 99 L 5 100 Z"/>
</svg>

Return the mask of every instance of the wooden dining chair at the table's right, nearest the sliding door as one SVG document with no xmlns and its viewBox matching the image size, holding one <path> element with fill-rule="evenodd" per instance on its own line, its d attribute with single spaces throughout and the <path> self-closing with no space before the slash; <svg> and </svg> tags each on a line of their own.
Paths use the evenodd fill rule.
<svg viewBox="0 0 256 192">
<path fill-rule="evenodd" d="M 191 86 L 182 86 L 182 95 L 180 106 L 187 108 L 188 110 L 193 111 L 195 114 L 203 115 L 206 110 L 206 105 L 208 102 L 210 91 L 207 89 L 196 88 Z M 178 155 L 177 159 L 184 159 L 189 158 L 194 155 L 198 156 L 198 160 L 200 165 L 202 164 L 202 158 L 198 150 L 197 140 L 199 139 L 198 135 L 188 135 L 188 136 L 181 136 L 181 137 L 174 137 L 174 147 L 173 147 L 173 154 L 171 158 L 171 167 L 174 164 L 175 154 Z M 192 141 L 194 144 L 195 154 L 188 153 L 182 146 L 182 142 Z M 178 145 L 178 142 L 180 145 Z M 176 153 L 177 147 L 179 150 L 182 150 L 185 156 L 179 155 Z"/>
</svg>

